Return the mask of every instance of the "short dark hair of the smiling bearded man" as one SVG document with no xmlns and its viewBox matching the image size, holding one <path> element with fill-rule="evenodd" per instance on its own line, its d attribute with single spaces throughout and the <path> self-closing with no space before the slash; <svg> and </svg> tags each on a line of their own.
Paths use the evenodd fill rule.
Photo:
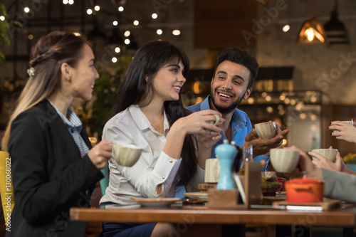
<svg viewBox="0 0 356 237">
<path fill-rule="evenodd" d="M 253 58 L 250 53 L 248 53 L 247 51 L 243 51 L 240 48 L 225 48 L 219 53 L 218 62 L 216 64 L 213 74 L 214 77 L 216 73 L 216 68 L 218 68 L 220 63 L 224 61 L 243 65 L 245 68 L 250 70 L 250 79 L 248 80 L 247 89 L 252 87 L 253 80 L 256 79 L 258 73 L 258 63 L 256 58 Z"/>
</svg>

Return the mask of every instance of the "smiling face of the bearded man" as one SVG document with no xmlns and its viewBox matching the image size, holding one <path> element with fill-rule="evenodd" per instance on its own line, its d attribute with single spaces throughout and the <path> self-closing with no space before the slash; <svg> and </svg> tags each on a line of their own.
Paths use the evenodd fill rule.
<svg viewBox="0 0 356 237">
<path fill-rule="evenodd" d="M 211 80 L 210 96 L 212 106 L 219 112 L 232 112 L 251 94 L 247 89 L 250 70 L 238 63 L 224 61 L 216 68 Z"/>
</svg>

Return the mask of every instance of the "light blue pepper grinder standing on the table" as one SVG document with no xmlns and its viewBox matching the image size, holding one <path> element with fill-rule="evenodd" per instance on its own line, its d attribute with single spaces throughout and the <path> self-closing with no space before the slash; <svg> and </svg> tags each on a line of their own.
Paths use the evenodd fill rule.
<svg viewBox="0 0 356 237">
<path fill-rule="evenodd" d="M 229 144 L 227 139 L 224 139 L 223 144 L 216 146 L 215 154 L 220 163 L 220 177 L 216 189 L 236 189 L 231 167 L 234 164 L 237 152 L 236 147 Z"/>
</svg>

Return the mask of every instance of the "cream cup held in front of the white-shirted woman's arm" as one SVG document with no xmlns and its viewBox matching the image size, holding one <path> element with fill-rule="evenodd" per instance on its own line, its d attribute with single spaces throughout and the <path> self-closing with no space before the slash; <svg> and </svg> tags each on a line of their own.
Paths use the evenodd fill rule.
<svg viewBox="0 0 356 237">
<path fill-rule="evenodd" d="M 120 145 L 112 143 L 112 157 L 122 167 L 132 167 L 140 158 L 141 153 L 142 148 L 134 144 Z"/>
</svg>

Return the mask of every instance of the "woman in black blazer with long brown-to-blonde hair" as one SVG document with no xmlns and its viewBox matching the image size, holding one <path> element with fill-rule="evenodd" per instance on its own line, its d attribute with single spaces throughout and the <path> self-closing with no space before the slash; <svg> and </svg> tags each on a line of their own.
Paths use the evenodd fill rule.
<svg viewBox="0 0 356 237">
<path fill-rule="evenodd" d="M 110 142 L 93 149 L 75 112 L 74 98 L 90 100 L 94 55 L 73 33 L 52 32 L 31 51 L 29 79 L 11 116 L 2 147 L 11 156 L 15 206 L 6 236 L 84 236 L 85 222 L 69 209 L 89 206 L 111 157 Z"/>
</svg>

